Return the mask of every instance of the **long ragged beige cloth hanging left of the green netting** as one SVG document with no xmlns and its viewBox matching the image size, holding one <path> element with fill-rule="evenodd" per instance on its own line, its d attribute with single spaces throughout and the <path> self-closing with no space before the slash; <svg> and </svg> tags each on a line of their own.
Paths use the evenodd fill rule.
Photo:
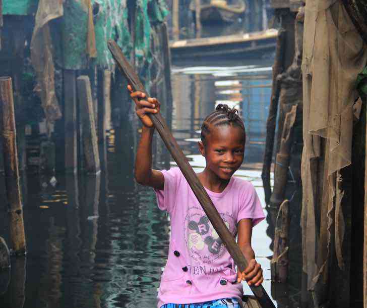
<svg viewBox="0 0 367 308">
<path fill-rule="evenodd" d="M 35 91 L 41 97 L 49 133 L 49 125 L 62 114 L 55 95 L 52 42 L 48 24 L 51 20 L 63 16 L 63 13 L 62 0 L 40 0 L 31 41 L 32 64 L 37 75 Z"/>
</svg>

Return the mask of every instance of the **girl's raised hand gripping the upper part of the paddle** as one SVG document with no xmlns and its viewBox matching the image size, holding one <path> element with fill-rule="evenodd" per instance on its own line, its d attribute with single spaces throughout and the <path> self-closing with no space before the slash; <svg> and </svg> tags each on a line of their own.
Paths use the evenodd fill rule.
<svg viewBox="0 0 367 308">
<path fill-rule="evenodd" d="M 139 119 L 142 121 L 143 125 L 149 128 L 153 128 L 152 120 L 147 116 L 147 114 L 156 114 L 159 112 L 160 104 L 156 98 L 148 97 L 147 100 L 144 100 L 146 97 L 145 93 L 141 91 L 133 92 L 133 88 L 131 85 L 128 85 L 128 90 L 130 91 L 130 96 L 133 98 L 135 102 L 135 111 Z"/>
</svg>

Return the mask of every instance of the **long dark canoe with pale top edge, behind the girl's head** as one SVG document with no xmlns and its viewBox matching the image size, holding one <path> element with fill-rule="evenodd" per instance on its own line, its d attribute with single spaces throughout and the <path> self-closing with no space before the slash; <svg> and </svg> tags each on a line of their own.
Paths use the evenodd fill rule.
<svg viewBox="0 0 367 308">
<path fill-rule="evenodd" d="M 170 44 L 172 60 L 217 57 L 259 57 L 275 51 L 278 31 L 246 33 L 207 38 L 178 40 Z"/>
</svg>

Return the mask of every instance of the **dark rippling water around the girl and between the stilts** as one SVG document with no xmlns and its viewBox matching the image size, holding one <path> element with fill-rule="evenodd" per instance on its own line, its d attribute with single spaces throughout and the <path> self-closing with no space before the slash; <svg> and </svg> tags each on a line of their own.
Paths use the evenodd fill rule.
<svg viewBox="0 0 367 308">
<path fill-rule="evenodd" d="M 172 130 L 196 171 L 205 164 L 196 145 L 203 117 L 220 102 L 241 111 L 248 139 L 246 158 L 236 175 L 252 181 L 265 213 L 260 176 L 271 62 L 264 61 L 261 66 L 176 67 L 172 75 Z M 105 173 L 56 175 L 55 179 L 22 177 L 28 253 L 26 258 L 13 258 L 11 270 L 0 274 L 0 307 L 156 306 L 169 221 L 156 207 L 152 189 L 134 181 L 139 126 L 134 118 L 131 123 L 131 135 L 124 139 L 123 150 L 115 146 L 119 132 L 110 131 Z M 153 152 L 156 168 L 174 166 L 159 139 Z M 3 189 L 4 178 L 0 179 Z M 5 205 L 4 191 L 1 193 Z M 0 212 L 0 235 L 9 242 L 4 208 Z M 267 228 L 267 221 L 256 226 L 253 247 L 264 268 L 263 285 L 270 294 L 267 256 L 272 251 Z M 251 292 L 248 287 L 246 291 Z"/>
</svg>

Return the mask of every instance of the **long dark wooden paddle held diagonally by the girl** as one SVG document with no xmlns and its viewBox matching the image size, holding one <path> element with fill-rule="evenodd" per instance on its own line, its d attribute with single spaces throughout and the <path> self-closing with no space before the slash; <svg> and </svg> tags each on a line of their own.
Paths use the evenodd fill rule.
<svg viewBox="0 0 367 308">
<path fill-rule="evenodd" d="M 116 61 L 120 71 L 126 76 L 133 90 L 144 92 L 147 95 L 146 97 L 149 97 L 149 94 L 147 93 L 146 89 L 144 88 L 138 75 L 135 73 L 134 69 L 131 67 L 129 62 L 126 60 L 126 58 L 124 57 L 118 45 L 113 40 L 109 40 L 108 48 L 114 60 Z M 233 236 L 229 233 L 217 209 L 214 207 L 212 200 L 210 199 L 203 185 L 200 183 L 198 177 L 196 176 L 196 173 L 194 172 L 193 168 L 190 166 L 188 160 L 186 159 L 186 156 L 179 148 L 176 140 L 174 139 L 172 133 L 170 132 L 163 117 L 161 116 L 160 113 L 148 114 L 148 116 L 152 120 L 159 135 L 162 137 L 164 144 L 167 146 L 173 159 L 177 163 L 177 166 L 179 167 L 182 174 L 185 176 L 186 180 L 188 181 L 195 196 L 198 198 L 199 203 L 203 207 L 205 214 L 208 216 L 215 231 L 217 231 L 220 239 L 224 243 L 229 254 L 232 256 L 238 269 L 241 272 L 243 272 L 247 268 L 248 263 L 246 259 L 244 258 L 242 251 L 239 249 Z M 266 293 L 263 286 L 252 285 L 250 286 L 250 288 L 254 292 L 257 300 L 259 301 L 259 303 L 261 304 L 263 308 L 275 308 L 274 303 L 270 299 L 269 295 Z"/>
</svg>

